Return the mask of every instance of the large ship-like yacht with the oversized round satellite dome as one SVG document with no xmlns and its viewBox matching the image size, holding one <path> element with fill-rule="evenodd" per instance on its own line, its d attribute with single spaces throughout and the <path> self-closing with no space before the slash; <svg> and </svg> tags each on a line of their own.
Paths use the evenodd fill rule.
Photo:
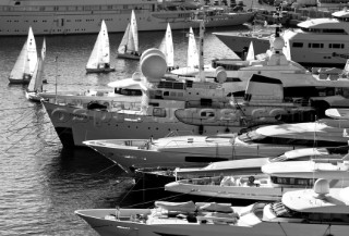
<svg viewBox="0 0 349 236">
<path fill-rule="evenodd" d="M 119 95 L 103 100 L 98 96 L 98 105 L 72 105 L 67 97 L 57 97 L 44 102 L 44 107 L 64 146 L 82 146 L 84 140 L 106 138 L 159 138 L 171 131 L 191 131 L 194 134 L 224 133 L 225 127 L 198 128 L 179 122 L 173 112 L 188 107 L 218 107 L 229 103 L 228 94 L 221 84 L 206 78 L 188 78 L 166 75 L 165 55 L 158 49 L 148 49 L 141 57 L 141 72 L 134 75 L 136 86 L 142 89 L 142 98 L 130 99 Z M 121 82 L 112 83 L 118 86 Z M 119 86 L 120 86 L 119 84 Z M 127 83 L 125 83 L 127 84 Z M 129 86 L 129 85 L 127 85 Z M 131 83 L 132 86 L 132 83 Z M 122 94 L 122 92 L 121 92 Z M 109 95 L 109 94 L 108 94 Z M 113 97 L 113 96 L 110 96 Z M 81 101 L 79 96 L 69 100 Z M 86 97 L 87 101 L 94 97 Z M 60 102 L 62 100 L 62 102 Z M 131 101 L 130 101 L 131 100 Z M 77 102 L 79 103 L 79 102 Z M 100 105 L 101 104 L 101 105 Z M 233 129 L 230 132 L 237 132 Z"/>
</svg>

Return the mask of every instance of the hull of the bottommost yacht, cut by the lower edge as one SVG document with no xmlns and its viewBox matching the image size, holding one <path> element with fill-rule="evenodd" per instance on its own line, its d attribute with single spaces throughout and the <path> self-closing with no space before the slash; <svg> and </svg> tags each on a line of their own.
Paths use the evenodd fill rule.
<svg viewBox="0 0 349 236">
<path fill-rule="evenodd" d="M 149 209 L 120 209 L 120 219 L 130 219 L 135 214 L 149 214 Z M 93 209 L 75 211 L 100 236 L 139 235 L 139 236 L 347 236 L 348 225 L 328 223 L 310 224 L 301 222 L 261 222 L 256 225 L 240 221 L 237 224 L 189 223 L 180 219 L 158 219 L 152 223 L 131 220 L 116 221 L 110 214 L 116 209 Z M 107 216 L 107 219 L 106 219 Z M 251 219 L 252 220 L 252 219 Z"/>
</svg>

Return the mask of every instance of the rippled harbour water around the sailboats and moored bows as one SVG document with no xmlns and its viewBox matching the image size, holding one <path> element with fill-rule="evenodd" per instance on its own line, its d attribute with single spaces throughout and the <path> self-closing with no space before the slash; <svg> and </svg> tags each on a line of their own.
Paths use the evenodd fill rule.
<svg viewBox="0 0 349 236">
<path fill-rule="evenodd" d="M 236 57 L 212 32 L 248 30 L 246 26 L 207 29 L 205 63 Z M 158 47 L 165 32 L 140 33 L 140 47 Z M 195 30 L 197 35 L 198 32 Z M 85 74 L 97 35 L 47 37 L 46 90 L 107 88 L 130 77 L 136 61 L 116 59 L 122 34 L 110 35 L 111 64 L 117 72 Z M 25 87 L 8 76 L 25 37 L 0 38 L 0 235 L 96 235 L 74 210 L 137 203 L 125 197 L 131 179 L 112 162 L 89 149 L 67 150 L 40 104 L 25 99 Z M 43 37 L 36 37 L 37 48 Z M 176 65 L 186 63 L 184 30 L 173 32 Z"/>
</svg>

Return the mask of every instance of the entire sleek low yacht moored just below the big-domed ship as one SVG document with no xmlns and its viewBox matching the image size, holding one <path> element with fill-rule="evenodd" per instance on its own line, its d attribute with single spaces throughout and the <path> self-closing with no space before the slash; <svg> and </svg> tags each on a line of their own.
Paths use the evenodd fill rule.
<svg viewBox="0 0 349 236">
<path fill-rule="evenodd" d="M 125 166 L 176 166 L 252 158 L 277 157 L 301 147 L 347 146 L 342 126 L 328 120 L 267 125 L 240 135 L 180 136 L 160 139 L 101 139 L 84 144 Z"/>
</svg>

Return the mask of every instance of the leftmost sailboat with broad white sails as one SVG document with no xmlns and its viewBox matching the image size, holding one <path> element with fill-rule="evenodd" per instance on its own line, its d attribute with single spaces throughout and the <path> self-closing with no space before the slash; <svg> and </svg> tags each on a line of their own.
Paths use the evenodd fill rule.
<svg viewBox="0 0 349 236">
<path fill-rule="evenodd" d="M 11 71 L 9 80 L 11 84 L 28 84 L 37 64 L 36 44 L 32 27 L 22 51 Z"/>
</svg>

